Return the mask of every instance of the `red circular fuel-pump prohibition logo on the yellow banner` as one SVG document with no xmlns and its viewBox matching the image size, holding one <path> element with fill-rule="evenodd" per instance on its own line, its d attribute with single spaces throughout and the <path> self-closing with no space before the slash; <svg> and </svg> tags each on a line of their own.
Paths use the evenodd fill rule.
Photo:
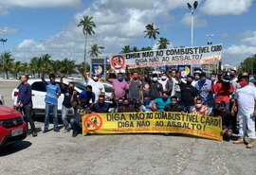
<svg viewBox="0 0 256 175">
<path fill-rule="evenodd" d="M 85 131 L 98 131 L 102 126 L 102 118 L 100 114 L 88 114 L 82 123 Z"/>
</svg>

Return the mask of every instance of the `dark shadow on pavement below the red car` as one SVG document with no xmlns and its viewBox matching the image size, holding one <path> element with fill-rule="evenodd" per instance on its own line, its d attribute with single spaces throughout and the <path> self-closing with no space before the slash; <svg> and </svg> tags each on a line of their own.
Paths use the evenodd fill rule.
<svg viewBox="0 0 256 175">
<path fill-rule="evenodd" d="M 31 142 L 20 141 L 20 142 L 17 142 L 15 144 L 13 144 L 13 145 L 9 145 L 7 147 L 1 148 L 0 149 L 0 157 L 18 152 L 18 151 L 23 150 L 23 149 L 27 149 L 31 145 L 32 145 Z"/>
</svg>

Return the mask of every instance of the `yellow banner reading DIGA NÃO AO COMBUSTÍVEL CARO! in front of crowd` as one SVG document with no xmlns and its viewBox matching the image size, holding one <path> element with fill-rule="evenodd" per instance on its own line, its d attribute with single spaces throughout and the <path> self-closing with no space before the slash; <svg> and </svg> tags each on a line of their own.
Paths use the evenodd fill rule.
<svg viewBox="0 0 256 175">
<path fill-rule="evenodd" d="M 186 113 L 84 114 L 82 135 L 89 133 L 174 132 L 222 140 L 221 117 Z"/>
</svg>

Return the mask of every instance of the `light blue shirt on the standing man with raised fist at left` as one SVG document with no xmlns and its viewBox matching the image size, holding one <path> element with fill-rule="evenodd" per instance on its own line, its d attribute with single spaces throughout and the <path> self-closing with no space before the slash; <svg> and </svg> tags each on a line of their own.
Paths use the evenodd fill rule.
<svg viewBox="0 0 256 175">
<path fill-rule="evenodd" d="M 61 88 L 58 83 L 51 83 L 46 81 L 46 103 L 58 105 L 57 94 L 61 94 Z"/>
</svg>

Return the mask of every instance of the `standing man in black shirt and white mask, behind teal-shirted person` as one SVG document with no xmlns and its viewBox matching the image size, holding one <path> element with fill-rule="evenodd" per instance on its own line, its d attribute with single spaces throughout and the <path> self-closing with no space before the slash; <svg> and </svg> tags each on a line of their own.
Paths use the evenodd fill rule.
<svg viewBox="0 0 256 175">
<path fill-rule="evenodd" d="M 163 93 L 163 86 L 158 82 L 157 74 L 153 74 L 153 79 L 150 82 L 150 99 L 154 100 L 155 98 L 161 97 Z"/>
</svg>

